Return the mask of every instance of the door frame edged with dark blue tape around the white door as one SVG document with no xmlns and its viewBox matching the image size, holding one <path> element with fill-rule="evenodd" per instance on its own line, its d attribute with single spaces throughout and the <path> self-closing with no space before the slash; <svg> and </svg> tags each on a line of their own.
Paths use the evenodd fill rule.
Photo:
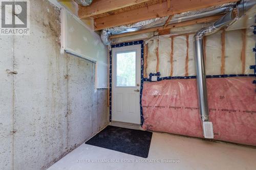
<svg viewBox="0 0 256 170">
<path fill-rule="evenodd" d="M 141 60 L 140 60 L 140 66 L 141 66 L 141 72 L 140 72 L 140 124 L 143 125 L 144 118 L 143 118 L 143 112 L 142 112 L 142 91 L 143 91 L 143 82 L 144 82 L 144 41 L 132 41 L 132 42 L 123 42 L 119 44 L 113 44 L 111 45 L 111 48 L 116 47 L 123 47 L 123 46 L 130 46 L 130 45 L 141 45 Z M 110 74 L 109 74 L 109 102 L 110 102 L 110 122 L 112 121 L 112 50 L 110 51 Z"/>
</svg>

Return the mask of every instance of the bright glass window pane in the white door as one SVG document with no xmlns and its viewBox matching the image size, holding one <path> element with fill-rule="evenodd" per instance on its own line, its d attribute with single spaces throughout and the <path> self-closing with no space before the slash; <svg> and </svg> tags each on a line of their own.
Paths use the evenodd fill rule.
<svg viewBox="0 0 256 170">
<path fill-rule="evenodd" d="M 136 86 L 136 52 L 116 55 L 116 86 Z"/>
</svg>

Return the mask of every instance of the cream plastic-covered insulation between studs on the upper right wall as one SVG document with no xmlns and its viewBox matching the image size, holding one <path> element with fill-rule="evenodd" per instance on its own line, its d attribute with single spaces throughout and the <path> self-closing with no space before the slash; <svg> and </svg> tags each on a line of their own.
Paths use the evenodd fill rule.
<svg viewBox="0 0 256 170">
<path fill-rule="evenodd" d="M 206 75 L 221 75 L 221 52 L 222 52 L 222 30 L 215 34 L 206 36 L 206 56 L 205 56 L 205 71 Z M 188 37 L 188 76 L 196 75 L 195 56 L 194 56 L 194 34 Z M 160 77 L 170 76 L 170 69 L 173 69 L 172 76 L 185 76 L 186 67 L 186 51 L 187 43 L 186 36 L 174 37 L 174 56 L 173 65 L 170 62 L 171 53 L 171 38 L 162 36 L 154 37 L 148 41 L 148 56 L 147 56 L 147 77 L 157 70 L 157 40 L 159 40 L 159 72 Z M 225 72 L 224 74 L 253 74 L 250 65 L 255 63 L 255 53 L 252 48 L 255 47 L 255 36 L 252 30 L 246 31 L 246 46 L 245 46 L 245 71 L 242 71 L 242 30 L 226 31 L 225 32 Z"/>
</svg>

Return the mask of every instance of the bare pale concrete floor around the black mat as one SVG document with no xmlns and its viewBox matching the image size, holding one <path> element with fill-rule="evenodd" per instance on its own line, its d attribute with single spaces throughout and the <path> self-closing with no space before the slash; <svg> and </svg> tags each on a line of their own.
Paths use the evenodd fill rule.
<svg viewBox="0 0 256 170">
<path fill-rule="evenodd" d="M 127 160 L 126 160 L 127 159 Z M 131 161 L 176 160 L 178 163 L 131 163 Z M 93 163 L 92 161 L 115 161 Z M 82 144 L 48 170 L 69 169 L 256 169 L 256 149 L 230 143 L 153 133 L 147 159 Z M 119 163 L 118 163 L 119 161 Z M 126 161 L 125 163 L 120 163 Z M 130 162 L 127 162 L 130 161 Z"/>
</svg>

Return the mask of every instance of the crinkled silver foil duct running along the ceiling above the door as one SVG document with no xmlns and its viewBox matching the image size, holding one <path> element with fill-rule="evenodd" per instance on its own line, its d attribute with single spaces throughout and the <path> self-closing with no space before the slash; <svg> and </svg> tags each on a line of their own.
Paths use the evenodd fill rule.
<svg viewBox="0 0 256 170">
<path fill-rule="evenodd" d="M 236 5 L 236 3 L 228 3 L 228 4 L 204 8 L 204 9 L 200 9 L 200 10 L 196 10 L 196 11 L 188 11 L 188 12 L 176 14 L 169 21 L 169 24 L 203 18 L 206 16 L 212 16 L 212 15 L 217 15 L 217 14 L 221 14 L 221 13 L 226 13 L 226 12 L 230 11 L 230 9 L 232 9 L 234 5 Z M 154 18 L 154 19 L 148 19 L 148 20 L 136 22 L 131 25 L 124 25 L 124 26 L 120 26 L 120 27 L 104 29 L 101 31 L 101 40 L 104 45 L 110 45 L 112 43 L 109 38 L 110 35 L 138 31 L 141 29 L 152 28 L 153 26 L 154 27 L 163 26 L 164 23 L 166 22 L 167 18 L 168 17 L 165 16 L 165 17 L 161 17 L 161 18 Z"/>
</svg>

